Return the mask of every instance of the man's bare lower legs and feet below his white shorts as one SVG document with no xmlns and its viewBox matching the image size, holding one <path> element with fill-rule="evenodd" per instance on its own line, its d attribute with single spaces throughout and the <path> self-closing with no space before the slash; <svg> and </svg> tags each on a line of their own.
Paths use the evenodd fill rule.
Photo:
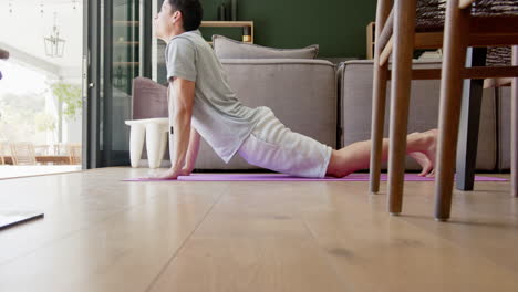
<svg viewBox="0 0 518 292">
<path fill-rule="evenodd" d="M 406 153 L 423 168 L 419 176 L 433 176 L 437 129 L 412 133 L 406 137 Z M 371 159 L 371 140 L 351 144 L 333 150 L 325 175 L 344 177 L 359 169 L 369 168 Z M 382 161 L 388 159 L 388 139 L 383 139 Z"/>
</svg>

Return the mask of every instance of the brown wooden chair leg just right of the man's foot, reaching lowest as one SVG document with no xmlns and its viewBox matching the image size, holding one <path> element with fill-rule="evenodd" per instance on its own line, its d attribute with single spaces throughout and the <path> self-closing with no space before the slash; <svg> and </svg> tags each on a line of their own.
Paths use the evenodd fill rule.
<svg viewBox="0 0 518 292">
<path fill-rule="evenodd" d="M 452 207 L 454 163 L 463 93 L 460 73 L 466 60 L 465 35 L 468 33 L 469 20 L 469 10 L 459 9 L 458 0 L 448 0 L 446 6 L 435 180 L 435 218 L 439 221 L 449 218 Z"/>
</svg>

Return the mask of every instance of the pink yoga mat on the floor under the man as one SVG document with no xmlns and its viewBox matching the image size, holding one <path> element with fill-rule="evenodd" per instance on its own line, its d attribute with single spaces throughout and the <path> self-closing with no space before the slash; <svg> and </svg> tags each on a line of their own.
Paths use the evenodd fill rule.
<svg viewBox="0 0 518 292">
<path fill-rule="evenodd" d="M 381 175 L 381 180 L 386 181 L 387 176 Z M 128 178 L 124 181 L 168 181 L 175 179 L 144 179 Z M 303 178 L 283 174 L 193 174 L 180 176 L 180 181 L 369 181 L 369 174 L 351 174 L 344 178 Z M 417 174 L 406 174 L 405 181 L 434 181 L 433 177 L 419 177 Z M 476 181 L 507 181 L 505 178 L 476 176 Z"/>
</svg>

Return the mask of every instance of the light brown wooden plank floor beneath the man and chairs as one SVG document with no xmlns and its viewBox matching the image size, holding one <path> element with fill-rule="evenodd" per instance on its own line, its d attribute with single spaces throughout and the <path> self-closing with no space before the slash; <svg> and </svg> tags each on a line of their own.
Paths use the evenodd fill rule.
<svg viewBox="0 0 518 292">
<path fill-rule="evenodd" d="M 508 182 L 454 195 L 406 182 L 403 215 L 367 182 L 123 182 L 105 168 L 0 180 L 0 291 L 518 291 Z"/>
</svg>

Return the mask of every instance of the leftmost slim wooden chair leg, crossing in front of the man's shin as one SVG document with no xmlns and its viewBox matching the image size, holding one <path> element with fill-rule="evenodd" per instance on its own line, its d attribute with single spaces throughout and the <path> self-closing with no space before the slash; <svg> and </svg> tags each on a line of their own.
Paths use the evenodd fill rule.
<svg viewBox="0 0 518 292">
<path fill-rule="evenodd" d="M 379 39 L 385 21 L 391 11 L 390 1 L 379 1 L 376 8 L 376 40 Z M 370 190 L 372 194 L 380 191 L 380 173 L 383 146 L 383 126 L 385 122 L 386 82 L 388 80 L 388 64 L 380 66 L 380 54 L 383 48 L 376 45 L 373 65 L 373 93 L 372 93 L 372 124 L 371 124 L 371 165 Z"/>
</svg>

